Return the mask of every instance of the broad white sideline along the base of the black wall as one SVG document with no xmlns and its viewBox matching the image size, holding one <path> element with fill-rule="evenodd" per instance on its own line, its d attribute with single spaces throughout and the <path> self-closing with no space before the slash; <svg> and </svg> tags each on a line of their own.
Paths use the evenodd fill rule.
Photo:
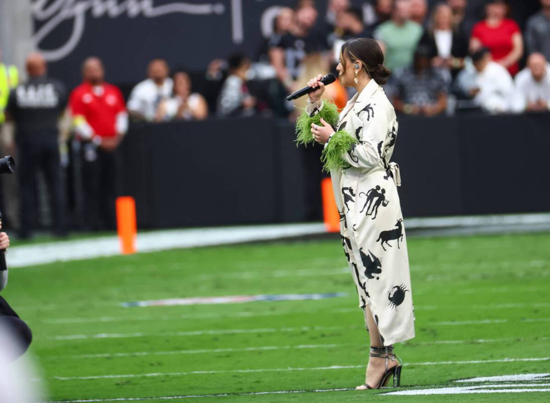
<svg viewBox="0 0 550 403">
<path fill-rule="evenodd" d="M 499 233 L 513 230 L 548 230 L 550 213 L 496 216 L 408 218 L 409 230 L 459 229 L 460 233 Z M 248 225 L 241 227 L 157 230 L 139 233 L 136 249 L 154 252 L 196 246 L 230 245 L 326 233 L 322 223 Z M 9 267 L 35 266 L 59 261 L 84 260 L 120 255 L 116 236 L 13 246 L 6 258 Z"/>
</svg>

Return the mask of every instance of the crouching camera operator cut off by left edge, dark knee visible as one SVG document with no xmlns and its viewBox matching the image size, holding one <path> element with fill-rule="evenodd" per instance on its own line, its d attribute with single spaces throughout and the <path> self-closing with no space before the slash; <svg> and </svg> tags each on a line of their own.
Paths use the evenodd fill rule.
<svg viewBox="0 0 550 403">
<path fill-rule="evenodd" d="M 2 222 L 0 221 L 0 229 Z M 9 237 L 5 232 L 0 232 L 0 250 L 6 251 L 9 247 Z M 8 269 L 0 270 L 0 291 L 8 285 Z M 10 360 L 23 355 L 32 341 L 32 332 L 29 326 L 21 320 L 8 301 L 0 296 L 0 328 L 9 332 L 16 342 L 15 350 L 10 351 Z"/>
</svg>

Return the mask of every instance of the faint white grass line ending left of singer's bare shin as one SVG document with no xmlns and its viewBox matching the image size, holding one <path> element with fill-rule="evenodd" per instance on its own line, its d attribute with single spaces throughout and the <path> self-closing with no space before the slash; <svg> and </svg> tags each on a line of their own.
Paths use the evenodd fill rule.
<svg viewBox="0 0 550 403">
<path fill-rule="evenodd" d="M 166 332 L 166 333 L 98 333 L 98 334 L 69 334 L 53 336 L 46 340 L 79 340 L 79 339 L 118 339 L 132 337 L 152 336 L 201 336 L 216 334 L 243 334 L 243 333 L 276 333 L 276 332 L 309 332 L 311 330 L 341 330 L 357 329 L 358 326 L 304 326 L 299 328 L 261 328 L 261 329 L 225 329 L 225 330 L 189 330 L 188 332 Z"/>
</svg>

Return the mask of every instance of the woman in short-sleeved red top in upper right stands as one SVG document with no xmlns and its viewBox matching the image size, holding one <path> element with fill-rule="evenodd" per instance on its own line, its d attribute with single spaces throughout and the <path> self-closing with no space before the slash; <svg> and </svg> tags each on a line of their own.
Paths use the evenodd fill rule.
<svg viewBox="0 0 550 403">
<path fill-rule="evenodd" d="M 508 3 L 491 0 L 485 5 L 485 20 L 474 25 L 470 49 L 486 47 L 493 60 L 508 69 L 511 75 L 519 71 L 518 60 L 523 56 L 523 38 L 518 24 L 506 18 Z"/>
</svg>

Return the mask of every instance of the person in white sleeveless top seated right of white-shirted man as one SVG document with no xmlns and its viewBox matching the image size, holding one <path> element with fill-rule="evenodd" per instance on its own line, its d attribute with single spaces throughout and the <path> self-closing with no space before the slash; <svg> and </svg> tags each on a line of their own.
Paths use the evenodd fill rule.
<svg viewBox="0 0 550 403">
<path fill-rule="evenodd" d="M 184 71 L 177 71 L 173 76 L 174 93 L 158 106 L 155 120 L 182 119 L 203 120 L 208 116 L 208 105 L 198 92 L 191 92 L 191 79 Z"/>
</svg>

